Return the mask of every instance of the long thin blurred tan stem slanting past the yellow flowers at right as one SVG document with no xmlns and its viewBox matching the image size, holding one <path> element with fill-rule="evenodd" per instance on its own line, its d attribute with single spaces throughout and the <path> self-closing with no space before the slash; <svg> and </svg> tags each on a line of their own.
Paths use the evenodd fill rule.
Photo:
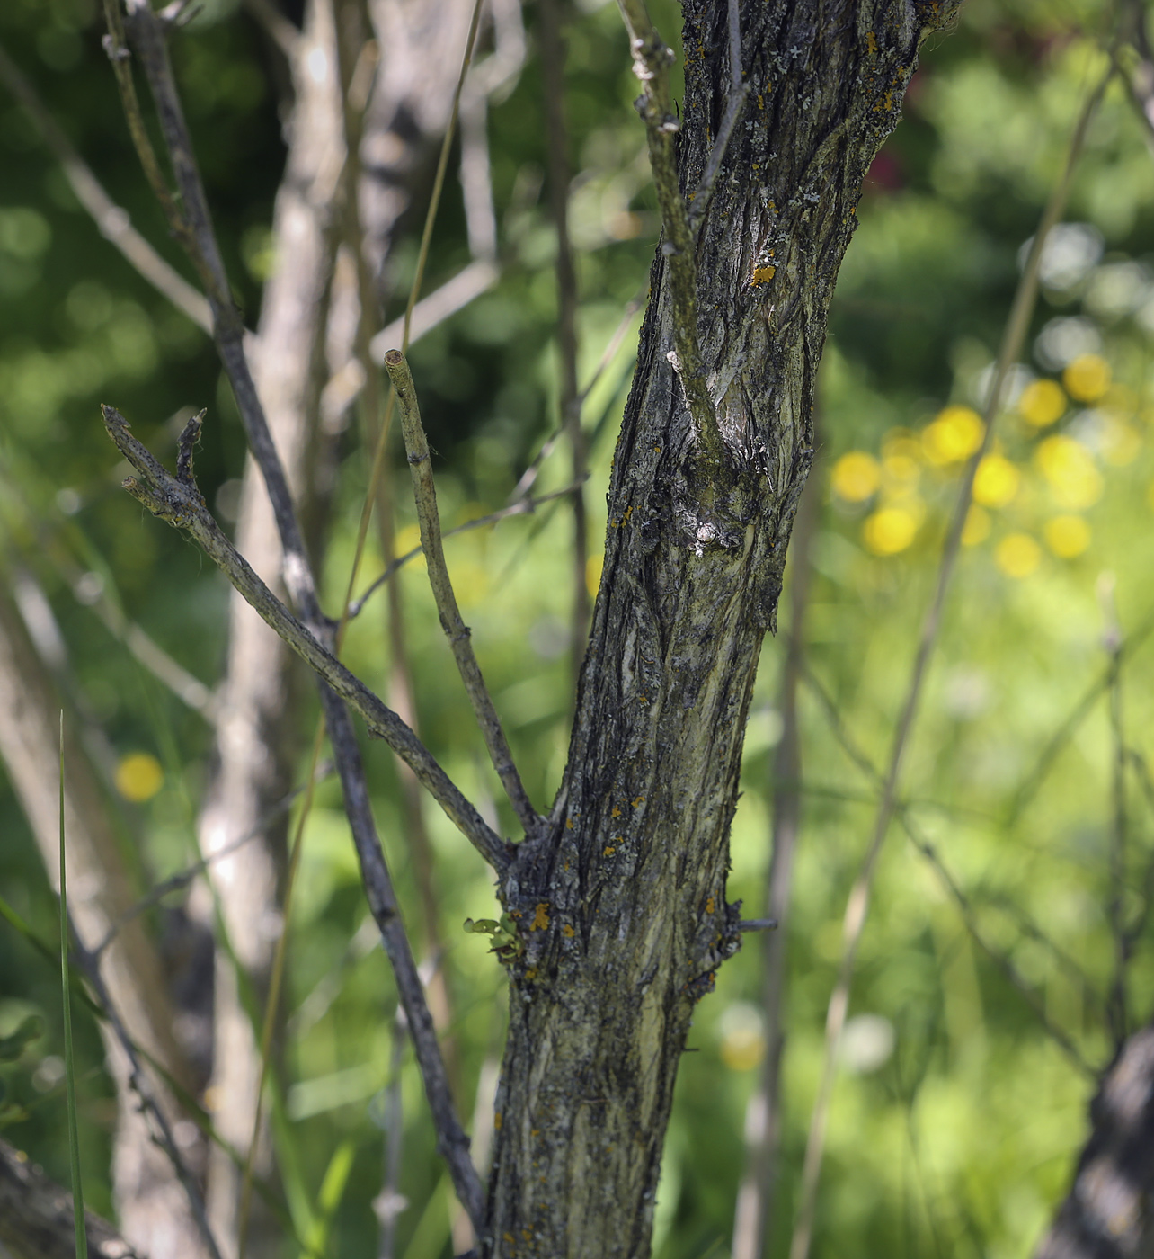
<svg viewBox="0 0 1154 1259">
<path fill-rule="evenodd" d="M 946 533 L 941 562 L 938 569 L 934 597 L 926 612 L 925 621 L 922 622 L 917 651 L 914 657 L 914 667 L 910 675 L 910 684 L 894 733 L 894 743 L 890 750 L 888 765 L 882 784 L 881 799 L 877 807 L 873 831 L 861 870 L 858 871 L 853 889 L 849 893 L 849 899 L 846 904 L 842 961 L 838 967 L 837 982 L 826 1011 L 824 1060 L 822 1064 L 822 1076 L 818 1085 L 818 1094 L 814 1102 L 813 1114 L 810 1117 L 809 1134 L 805 1143 L 805 1161 L 802 1170 L 800 1204 L 798 1207 L 793 1238 L 790 1240 L 789 1259 L 808 1259 L 809 1255 L 813 1221 L 817 1211 L 818 1180 L 821 1176 L 822 1156 L 826 1144 L 826 1123 L 829 1115 L 829 1102 L 833 1095 L 833 1083 L 837 1076 L 838 1049 L 841 1046 L 842 1031 L 846 1026 L 846 1015 L 849 1007 L 849 986 L 853 978 L 854 962 L 857 959 L 857 947 L 861 942 L 862 930 L 865 929 L 866 917 L 870 909 L 870 893 L 873 885 L 873 872 L 877 867 L 877 859 L 881 854 L 886 833 L 890 828 L 890 821 L 894 816 L 895 805 L 897 802 L 897 786 L 901 776 L 902 760 L 905 758 L 910 733 L 912 731 L 914 720 L 921 701 L 922 682 L 925 681 L 930 657 L 934 653 L 941 628 L 945 597 L 950 587 L 950 580 L 954 575 L 958 554 L 961 546 L 961 531 L 965 526 L 965 519 L 973 500 L 974 477 L 978 471 L 978 465 L 989 449 L 993 437 L 994 419 L 1002 404 L 1002 393 L 1006 385 L 1006 379 L 1009 374 L 1012 364 L 1017 361 L 1018 355 L 1021 354 L 1026 332 L 1029 327 L 1029 319 L 1033 312 L 1038 292 L 1038 269 L 1042 259 L 1042 249 L 1046 244 L 1046 237 L 1050 234 L 1050 229 L 1053 224 L 1058 220 L 1058 217 L 1066 204 L 1070 184 L 1073 178 L 1073 169 L 1077 164 L 1077 159 L 1086 137 L 1086 130 L 1089 128 L 1090 120 L 1106 89 L 1106 84 L 1114 77 L 1114 73 L 1115 64 L 1111 57 L 1106 73 L 1101 76 L 1100 81 L 1089 93 L 1086 102 L 1082 106 L 1077 125 L 1073 130 L 1073 136 L 1070 141 L 1065 169 L 1057 185 L 1050 195 L 1050 200 L 1042 213 L 1041 222 L 1038 223 L 1038 229 L 1034 233 L 1029 254 L 1026 259 L 1022 277 L 1018 281 L 1017 292 L 1014 293 L 1014 301 L 1009 311 L 1009 317 L 1007 319 L 1006 331 L 1002 336 L 1002 346 L 998 354 L 997 366 L 994 369 L 994 376 L 990 381 L 989 394 L 985 400 L 982 446 L 972 457 L 965 473 L 963 475 L 954 514 L 950 520 L 949 531 Z"/>
</svg>

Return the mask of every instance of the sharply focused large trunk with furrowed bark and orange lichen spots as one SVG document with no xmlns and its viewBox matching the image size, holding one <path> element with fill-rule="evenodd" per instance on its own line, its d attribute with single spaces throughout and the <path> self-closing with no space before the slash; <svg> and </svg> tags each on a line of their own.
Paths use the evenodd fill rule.
<svg viewBox="0 0 1154 1259">
<path fill-rule="evenodd" d="M 658 251 L 609 490 L 602 587 L 549 831 L 520 914 L 487 1253 L 643 1256 L 695 1003 L 739 944 L 726 901 L 741 740 L 812 457 L 813 384 L 862 179 L 956 4 L 741 4 L 750 87 L 697 242 L 697 334 L 724 449 L 676 374 Z M 729 83 L 726 6 L 685 0 L 678 169 Z M 709 434 L 703 434 L 709 437 Z M 710 443 L 712 444 L 712 443 Z"/>
</svg>

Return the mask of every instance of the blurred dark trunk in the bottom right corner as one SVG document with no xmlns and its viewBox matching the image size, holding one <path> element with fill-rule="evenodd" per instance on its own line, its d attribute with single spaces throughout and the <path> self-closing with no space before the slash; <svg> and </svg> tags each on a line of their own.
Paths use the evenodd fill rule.
<svg viewBox="0 0 1154 1259">
<path fill-rule="evenodd" d="M 1154 1024 L 1135 1032 L 1090 1104 L 1090 1139 L 1034 1259 L 1154 1255 Z"/>
</svg>

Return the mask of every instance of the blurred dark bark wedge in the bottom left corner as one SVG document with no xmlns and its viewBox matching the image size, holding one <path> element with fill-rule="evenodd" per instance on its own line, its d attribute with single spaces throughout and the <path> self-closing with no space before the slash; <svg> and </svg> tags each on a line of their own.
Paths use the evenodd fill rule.
<svg viewBox="0 0 1154 1259">
<path fill-rule="evenodd" d="M 89 1255 L 141 1259 L 141 1251 L 93 1211 L 84 1211 L 84 1230 Z M 76 1259 L 72 1194 L 0 1139 L 0 1254 L 5 1246 L 11 1259 Z"/>
</svg>

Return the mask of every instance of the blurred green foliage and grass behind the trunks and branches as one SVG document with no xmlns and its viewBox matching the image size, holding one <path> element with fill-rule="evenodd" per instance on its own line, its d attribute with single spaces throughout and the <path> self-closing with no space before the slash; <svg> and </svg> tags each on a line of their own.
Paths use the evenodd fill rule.
<svg viewBox="0 0 1154 1259">
<path fill-rule="evenodd" d="M 654 11 L 672 35 L 672 5 Z M 530 26 L 534 16 L 527 11 Z M 958 29 L 926 48 L 905 121 L 878 159 L 858 212 L 861 228 L 834 298 L 821 384 L 813 491 L 822 497 L 822 515 L 805 640 L 810 666 L 833 696 L 844 730 L 878 765 L 909 677 L 960 468 L 919 454 L 926 449 L 921 434 L 948 404 L 980 405 L 982 374 L 997 349 L 1019 249 L 1034 229 L 1075 115 L 1100 69 L 1096 39 L 1105 18 L 1104 6 L 1092 0 L 968 0 Z M 92 0 L 9 0 L 0 6 L 4 47 L 36 81 L 133 223 L 184 269 L 138 175 L 99 34 Z M 629 107 L 636 82 L 614 6 L 581 0 L 568 45 L 581 376 L 589 379 L 625 303 L 646 281 L 657 214 L 641 123 Z M 227 262 L 252 319 L 283 156 L 276 54 L 225 4 L 210 6 L 176 40 L 175 55 Z M 555 237 L 541 194 L 541 93 L 539 63 L 531 57 L 516 88 L 491 115 L 502 279 L 412 354 L 425 424 L 440 456 L 437 473 L 448 524 L 502 506 L 556 422 Z M 146 753 L 162 767 L 162 787 L 146 802 L 118 798 L 109 786 L 126 852 L 145 889 L 194 857 L 193 823 L 210 731 L 136 666 L 92 608 L 74 597 L 68 573 L 92 574 L 88 589 L 102 584 L 130 618 L 208 684 L 221 669 L 227 592 L 193 548 L 121 492 L 98 403 L 116 403 L 157 451 L 171 448 L 190 408 L 208 405 L 198 471 L 208 501 L 223 507 L 240 475 L 243 439 L 206 339 L 103 242 L 6 97 L 0 97 L 0 149 L 3 545 L 9 565 L 33 570 L 50 597 L 68 646 L 73 697 L 88 720 L 117 758 Z M 451 193 L 428 288 L 468 258 L 452 185 Z M 418 206 L 422 214 L 419 198 Z M 1038 1008 L 1097 1068 L 1111 1053 L 1102 998 L 1114 964 L 1106 909 L 1114 747 L 1105 692 L 1071 731 L 1038 789 L 1017 812 L 1012 806 L 1051 737 L 1105 674 L 1101 596 L 1109 582 L 1102 575 L 1112 574 L 1124 635 L 1141 631 L 1154 616 L 1154 159 L 1118 81 L 1091 128 L 1066 218 L 1087 225 L 1078 239 L 1097 239 L 1101 252 L 1095 257 L 1091 249 L 1080 272 L 1051 273 L 1031 344 L 1047 329 L 1053 340 L 1052 321 L 1077 320 L 1060 331 L 1102 360 L 1112 384 L 1096 398 L 1071 397 L 1062 418 L 1042 433 L 1013 405 L 999 419 L 999 453 L 1018 472 L 1016 492 L 984 509 L 988 534 L 964 550 L 905 784 L 911 815 L 965 889 L 983 938 L 1012 962 Z M 394 256 L 390 315 L 403 302 L 414 266 L 413 234 Z M 607 421 L 594 443 L 589 491 L 595 548 L 605 524 L 603 488 L 636 322 L 585 408 L 590 431 Z M 1019 387 L 1027 373 L 1061 381 L 1066 364 L 1034 351 L 1022 366 Z M 1068 510 L 1038 461 L 1041 443 L 1055 432 L 1087 452 L 1102 491 L 1076 512 L 1089 526 L 1089 545 L 1065 558 L 1047 545 L 1046 529 Z M 877 461 L 877 488 L 857 501 L 829 488 L 831 471 L 847 452 Z M 895 454 L 906 465 L 894 465 Z M 540 487 L 565 483 L 561 463 L 554 457 L 545 465 Z M 350 433 L 326 569 L 330 611 L 346 579 L 366 476 L 364 452 Z M 404 504 L 406 476 L 399 462 L 394 476 Z M 907 545 L 878 554 L 868 543 L 870 520 L 892 507 L 909 510 L 916 530 Z M 404 526 L 413 525 L 406 511 L 403 541 Z M 1011 536 L 1034 543 L 1024 553 L 1017 544 L 1019 556 L 1033 555 L 1018 575 L 1007 569 L 1023 565 L 1009 563 L 1002 546 Z M 568 735 L 566 540 L 565 514 L 552 510 L 449 544 L 482 665 L 539 806 L 556 788 Z M 365 572 L 375 574 L 380 564 L 373 555 Z M 424 737 L 468 793 L 491 797 L 493 783 L 456 674 L 447 667 L 418 564 L 404 582 Z M 378 687 L 388 665 L 384 643 L 383 604 L 370 603 L 345 655 Z M 760 912 L 765 895 L 781 655 L 780 642 L 766 642 L 734 825 L 730 894 L 744 899 L 748 913 Z M 1126 739 L 1139 754 L 1128 778 L 1130 915 L 1146 904 L 1146 869 L 1154 859 L 1150 656 L 1149 646 L 1136 646 L 1121 684 Z M 787 1110 L 774 1255 L 788 1245 L 841 919 L 868 838 L 873 796 L 872 783 L 847 758 L 808 690 L 802 721 L 805 808 L 789 940 Z M 405 903 L 415 904 L 394 768 L 380 745 L 367 755 L 389 857 Z M 512 833 L 511 816 L 501 817 Z M 486 871 L 463 850 L 461 836 L 432 810 L 429 822 L 439 859 L 440 927 L 451 940 L 445 966 L 458 1013 L 456 1035 L 472 1087 L 482 1061 L 500 1054 L 505 981 L 482 937 L 466 935 L 461 923 L 493 917 L 495 901 Z M 0 835 L 0 895 L 49 939 L 54 899 L 3 778 Z M 287 1118 L 278 1126 L 278 1149 L 298 1224 L 315 1210 L 333 1153 L 351 1152 L 331 1253 L 367 1255 L 375 1230 L 370 1202 L 381 1183 L 380 1090 L 395 997 L 380 951 L 350 943 L 367 912 L 333 783 L 320 792 L 303 861 L 292 922 Z M 155 925 L 162 927 L 160 915 Z M 1151 964 L 1154 951 L 1144 933 L 1126 977 L 1134 1022 L 1146 1020 L 1154 1007 Z M 0 923 L 0 1035 L 29 1013 L 48 1021 L 47 1034 L 23 1058 L 0 1063 L 10 1104 L 6 1134 L 65 1180 L 57 985 L 53 964 Z M 327 993 L 327 1006 L 318 993 Z M 758 1076 L 758 993 L 759 951 L 748 944 L 698 1007 L 657 1209 L 659 1259 L 727 1254 L 744 1113 Z M 878 872 L 851 1015 L 814 1253 L 997 1259 L 1028 1253 L 1085 1138 L 1092 1084 L 975 943 L 933 866 L 896 825 Z M 77 1035 L 87 1196 L 111 1212 L 113 1103 L 94 1026 L 79 1011 Z M 400 1254 L 435 1259 L 452 1253 L 448 1194 L 409 1059 L 403 1095 L 401 1190 L 410 1205 L 401 1216 Z"/>
</svg>

